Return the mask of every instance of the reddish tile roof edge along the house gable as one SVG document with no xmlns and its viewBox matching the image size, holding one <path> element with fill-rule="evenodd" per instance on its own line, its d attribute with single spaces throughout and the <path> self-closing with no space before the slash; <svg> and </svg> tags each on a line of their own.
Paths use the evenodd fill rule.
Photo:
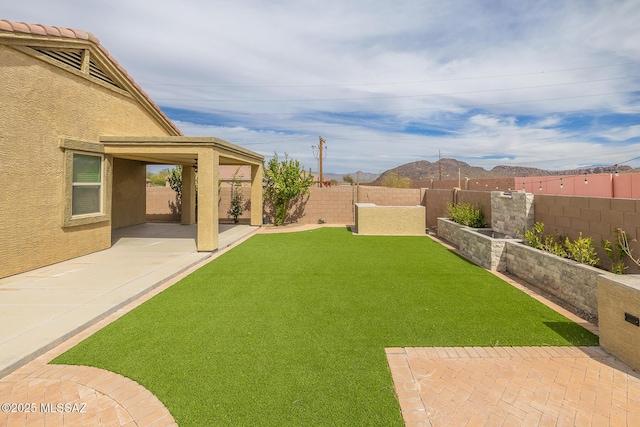
<svg viewBox="0 0 640 427">
<path fill-rule="evenodd" d="M 173 130 L 177 133 L 177 135 L 182 136 L 182 132 L 178 127 L 162 112 L 160 107 L 147 95 L 147 93 L 142 90 L 140 85 L 133 80 L 133 78 L 127 73 L 127 70 L 122 67 L 116 59 L 109 54 L 109 51 L 100 44 L 100 40 L 93 34 L 83 31 L 76 30 L 72 28 L 63 28 L 63 27 L 54 27 L 49 25 L 42 24 L 27 24 L 24 22 L 16 22 L 9 21 L 7 19 L 0 19 L 0 34 L 2 32 L 10 32 L 10 33 L 23 33 L 23 34 L 32 34 L 34 36 L 44 36 L 44 37 L 60 37 L 67 39 L 76 39 L 76 40 L 86 40 L 93 45 L 96 46 L 104 56 L 122 73 L 122 75 L 129 80 L 129 82 L 135 87 L 138 93 L 144 97 L 147 102 L 154 108 L 158 114 L 160 114 L 173 128 Z"/>
</svg>

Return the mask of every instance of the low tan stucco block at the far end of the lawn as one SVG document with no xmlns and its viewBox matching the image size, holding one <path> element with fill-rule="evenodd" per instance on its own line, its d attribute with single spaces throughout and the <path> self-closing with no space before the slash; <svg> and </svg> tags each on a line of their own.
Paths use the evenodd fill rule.
<svg viewBox="0 0 640 427">
<path fill-rule="evenodd" d="M 356 230 L 361 235 L 424 236 L 424 215 L 424 206 L 356 203 Z"/>
</svg>

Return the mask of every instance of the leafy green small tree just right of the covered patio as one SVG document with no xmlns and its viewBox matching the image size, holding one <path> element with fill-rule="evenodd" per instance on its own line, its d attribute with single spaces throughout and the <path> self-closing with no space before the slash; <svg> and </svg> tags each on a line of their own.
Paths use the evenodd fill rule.
<svg viewBox="0 0 640 427">
<path fill-rule="evenodd" d="M 276 225 L 284 223 L 291 203 L 308 194 L 313 185 L 311 169 L 307 172 L 298 160 L 289 159 L 287 153 L 284 156 L 280 161 L 278 153 L 274 153 L 264 170 L 264 197 L 273 203 Z"/>
</svg>

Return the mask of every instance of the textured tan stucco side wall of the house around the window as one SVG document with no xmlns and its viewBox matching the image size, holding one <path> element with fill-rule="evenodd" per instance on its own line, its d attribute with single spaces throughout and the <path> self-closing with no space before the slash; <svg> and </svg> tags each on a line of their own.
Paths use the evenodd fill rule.
<svg viewBox="0 0 640 427">
<path fill-rule="evenodd" d="M 164 136 L 168 131 L 124 91 L 4 45 L 0 67 L 0 277 L 108 248 L 108 219 L 62 226 L 61 138 L 98 143 L 100 135 Z M 112 177 L 110 169 L 105 173 L 106 189 Z M 104 209 L 110 204 L 105 198 Z M 118 210 L 121 224 L 137 221 Z"/>
</svg>

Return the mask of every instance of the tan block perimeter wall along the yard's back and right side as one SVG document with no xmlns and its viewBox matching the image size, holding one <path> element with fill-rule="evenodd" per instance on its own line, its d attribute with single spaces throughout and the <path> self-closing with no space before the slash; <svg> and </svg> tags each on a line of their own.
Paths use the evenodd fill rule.
<svg viewBox="0 0 640 427">
<path fill-rule="evenodd" d="M 622 175 L 621 175 L 622 176 Z M 244 188 L 245 199 L 249 189 Z M 227 215 L 230 187 L 223 183 L 220 191 L 219 217 L 230 220 Z M 438 217 L 447 216 L 447 204 L 471 203 L 482 207 L 487 223 L 491 223 L 491 192 L 460 189 L 398 189 L 387 187 L 344 186 L 312 187 L 310 194 L 302 199 L 303 206 L 292 209 L 292 220 L 315 224 L 319 219 L 326 223 L 355 223 L 356 203 L 375 203 L 379 206 L 415 206 L 426 208 L 426 228 L 437 226 Z M 167 187 L 147 187 L 147 221 L 179 221 L 175 193 Z M 298 212 L 295 209 L 298 208 Z M 302 208 L 302 209 L 300 209 Z M 640 257 L 640 245 L 632 242 L 640 237 L 640 199 L 611 197 L 585 197 L 566 195 L 534 195 L 535 221 L 545 224 L 545 231 L 575 239 L 579 233 L 590 236 L 605 268 L 609 258 L 600 247 L 601 239 L 614 241 L 614 228 L 626 231 L 634 254 Z M 241 219 L 248 220 L 249 212 Z M 271 219 L 271 218 L 270 218 Z M 630 265 L 631 263 L 627 263 Z M 627 273 L 638 273 L 640 268 L 631 266 Z"/>
</svg>

